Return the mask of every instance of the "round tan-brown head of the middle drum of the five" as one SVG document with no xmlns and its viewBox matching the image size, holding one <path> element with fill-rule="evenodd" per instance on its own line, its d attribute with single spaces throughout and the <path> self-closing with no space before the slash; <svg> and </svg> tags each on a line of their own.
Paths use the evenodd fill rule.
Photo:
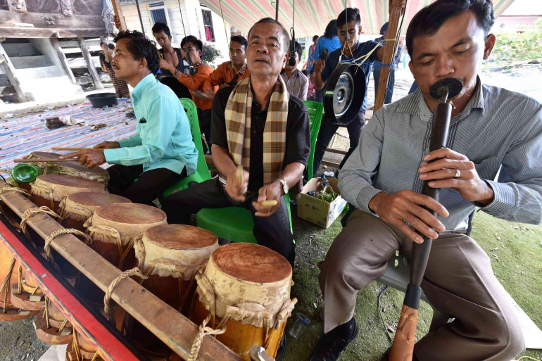
<svg viewBox="0 0 542 361">
<path fill-rule="evenodd" d="M 125 224 L 153 224 L 163 222 L 165 213 L 156 207 L 139 203 L 113 203 L 103 205 L 94 213 L 105 220 Z"/>
</svg>

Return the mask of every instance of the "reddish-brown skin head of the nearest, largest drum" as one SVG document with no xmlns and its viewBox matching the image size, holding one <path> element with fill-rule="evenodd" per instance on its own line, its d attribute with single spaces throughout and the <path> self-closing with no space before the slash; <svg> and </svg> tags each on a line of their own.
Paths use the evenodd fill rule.
<svg viewBox="0 0 542 361">
<path fill-rule="evenodd" d="M 211 259 L 231 277 L 257 284 L 270 284 L 291 277 L 291 265 L 279 253 L 253 243 L 229 243 L 219 247 Z"/>
</svg>

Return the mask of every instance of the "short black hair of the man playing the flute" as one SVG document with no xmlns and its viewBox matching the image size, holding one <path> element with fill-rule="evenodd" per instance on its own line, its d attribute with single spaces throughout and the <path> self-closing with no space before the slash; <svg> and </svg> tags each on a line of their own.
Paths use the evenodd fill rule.
<svg viewBox="0 0 542 361">
<path fill-rule="evenodd" d="M 487 36 L 495 23 L 491 0 L 437 0 L 418 11 L 410 21 L 406 34 L 408 55 L 412 58 L 415 38 L 435 34 L 447 20 L 465 11 L 472 11 L 476 15 L 478 25 Z"/>
</svg>

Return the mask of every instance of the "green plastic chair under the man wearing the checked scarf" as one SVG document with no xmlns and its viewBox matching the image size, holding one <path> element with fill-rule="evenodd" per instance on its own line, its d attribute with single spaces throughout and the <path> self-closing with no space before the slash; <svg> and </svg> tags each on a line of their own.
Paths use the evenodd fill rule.
<svg viewBox="0 0 542 361">
<path fill-rule="evenodd" d="M 315 101 L 305 101 L 310 122 L 310 156 L 308 158 L 307 172 L 309 179 L 313 177 L 314 150 L 320 123 L 322 122 L 322 112 L 324 105 Z M 291 225 L 290 196 L 284 196 L 288 215 L 290 218 L 290 230 L 293 233 Z M 254 238 L 254 221 L 251 213 L 239 207 L 227 208 L 203 208 L 196 215 L 198 227 L 213 232 L 216 236 L 227 239 L 232 242 L 258 243 Z M 294 241 L 295 242 L 295 241 Z"/>
</svg>

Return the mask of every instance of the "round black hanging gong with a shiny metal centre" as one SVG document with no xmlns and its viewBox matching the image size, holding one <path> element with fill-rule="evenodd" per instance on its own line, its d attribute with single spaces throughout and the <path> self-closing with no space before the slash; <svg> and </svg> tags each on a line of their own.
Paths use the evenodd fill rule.
<svg viewBox="0 0 542 361">
<path fill-rule="evenodd" d="M 365 99 L 365 72 L 352 63 L 339 63 L 327 80 L 324 90 L 324 111 L 336 125 L 354 120 Z"/>
</svg>

